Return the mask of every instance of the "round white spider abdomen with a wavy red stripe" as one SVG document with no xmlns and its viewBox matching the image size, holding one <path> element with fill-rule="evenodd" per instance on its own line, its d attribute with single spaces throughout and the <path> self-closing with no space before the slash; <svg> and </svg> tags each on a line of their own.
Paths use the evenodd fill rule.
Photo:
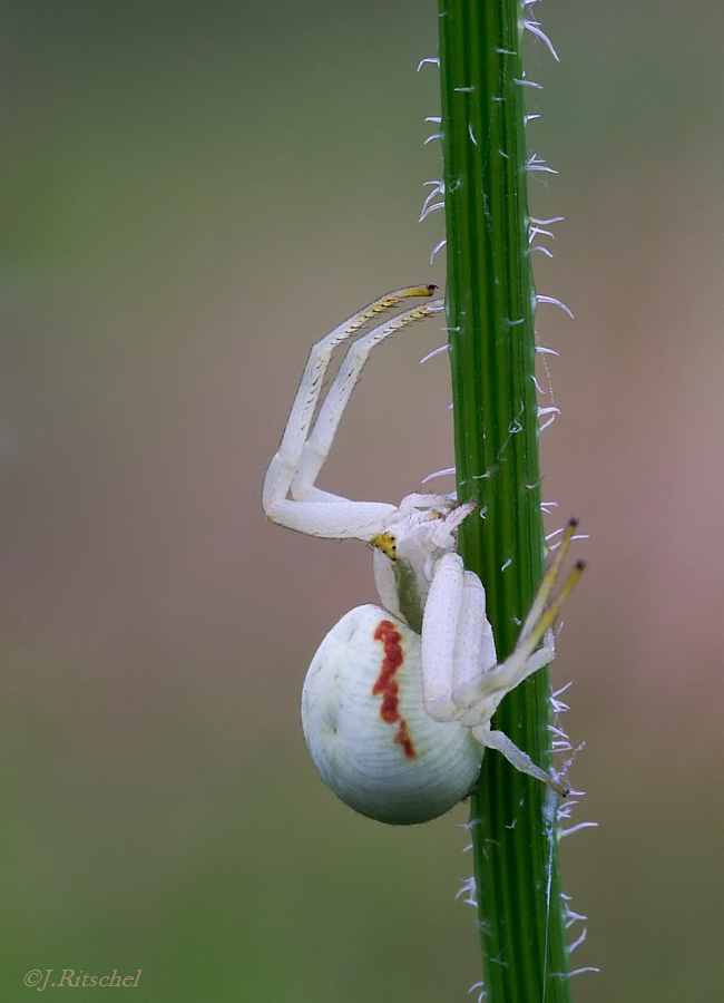
<svg viewBox="0 0 724 1003">
<path fill-rule="evenodd" d="M 420 635 L 379 606 L 352 610 L 314 655 L 302 694 L 306 744 L 345 805 L 392 825 L 444 814 L 469 792 L 482 749 L 424 710 Z"/>
</svg>

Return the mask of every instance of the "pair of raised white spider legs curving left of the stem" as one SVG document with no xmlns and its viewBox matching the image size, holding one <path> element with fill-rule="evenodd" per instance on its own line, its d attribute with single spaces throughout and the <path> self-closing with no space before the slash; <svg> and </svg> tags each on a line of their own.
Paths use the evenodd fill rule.
<svg viewBox="0 0 724 1003">
<path fill-rule="evenodd" d="M 423 285 L 389 293 L 340 324 L 312 348 L 282 444 L 264 480 L 262 504 L 272 522 L 312 536 L 370 539 L 383 529 L 397 512 L 395 506 L 385 503 L 353 501 L 322 491 L 315 487 L 315 480 L 372 348 L 413 321 L 430 315 L 441 308 L 442 302 L 433 301 L 408 310 L 354 342 L 330 387 L 313 428 L 312 420 L 334 348 L 402 300 L 430 296 L 433 291 L 433 285 Z"/>
</svg>

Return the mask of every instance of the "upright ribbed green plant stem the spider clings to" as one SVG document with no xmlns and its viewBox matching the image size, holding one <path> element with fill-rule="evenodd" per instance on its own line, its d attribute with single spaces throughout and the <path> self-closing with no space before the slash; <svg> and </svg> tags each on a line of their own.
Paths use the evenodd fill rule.
<svg viewBox="0 0 724 1003">
<path fill-rule="evenodd" d="M 545 565 L 519 0 L 440 0 L 447 311 L 460 552 L 486 587 L 498 656 Z M 550 767 L 547 670 L 493 720 Z M 471 824 L 487 1003 L 570 1001 L 555 796 L 487 752 Z"/>
</svg>

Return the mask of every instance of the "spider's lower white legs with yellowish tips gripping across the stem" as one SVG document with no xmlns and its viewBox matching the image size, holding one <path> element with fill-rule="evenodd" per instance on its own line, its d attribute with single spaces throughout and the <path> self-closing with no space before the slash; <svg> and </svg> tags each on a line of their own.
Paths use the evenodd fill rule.
<svg viewBox="0 0 724 1003">
<path fill-rule="evenodd" d="M 555 656 L 551 627 L 583 572 L 583 564 L 577 564 L 557 598 L 549 603 L 575 526 L 571 520 L 516 647 L 500 664 L 486 616 L 482 584 L 477 575 L 463 569 L 462 561 L 454 554 L 447 554 L 436 565 L 422 622 L 422 683 L 428 713 L 438 721 L 456 720 L 469 726 L 481 744 L 497 749 L 516 769 L 561 795 L 567 789 L 536 766 L 508 736 L 492 731 L 490 720 L 510 690 Z"/>
</svg>

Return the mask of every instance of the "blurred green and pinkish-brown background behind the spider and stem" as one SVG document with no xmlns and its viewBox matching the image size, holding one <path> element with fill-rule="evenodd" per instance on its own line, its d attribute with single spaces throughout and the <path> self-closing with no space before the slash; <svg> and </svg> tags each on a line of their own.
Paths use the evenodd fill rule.
<svg viewBox="0 0 724 1003">
<path fill-rule="evenodd" d="M 531 152 L 547 517 L 589 562 L 555 682 L 588 791 L 561 845 L 578 1003 L 720 1001 L 721 4 L 548 0 Z M 361 544 L 267 525 L 313 340 L 443 277 L 432 0 L 0 3 L 0 997 L 143 970 L 140 1001 L 441 1003 L 480 977 L 460 807 L 358 818 L 299 721 L 373 597 Z M 431 323 L 370 362 L 323 485 L 452 462 Z M 540 382 L 548 389 L 541 367 Z M 541 398 L 541 403 L 549 405 Z M 447 483 L 449 484 L 449 481 Z M 581 932 L 571 928 L 571 939 Z M 48 986 L 50 992 L 50 985 Z M 84 999 L 105 999 L 87 989 Z M 43 997 L 45 999 L 45 997 Z M 51 997 L 55 999 L 55 997 Z"/>
</svg>

